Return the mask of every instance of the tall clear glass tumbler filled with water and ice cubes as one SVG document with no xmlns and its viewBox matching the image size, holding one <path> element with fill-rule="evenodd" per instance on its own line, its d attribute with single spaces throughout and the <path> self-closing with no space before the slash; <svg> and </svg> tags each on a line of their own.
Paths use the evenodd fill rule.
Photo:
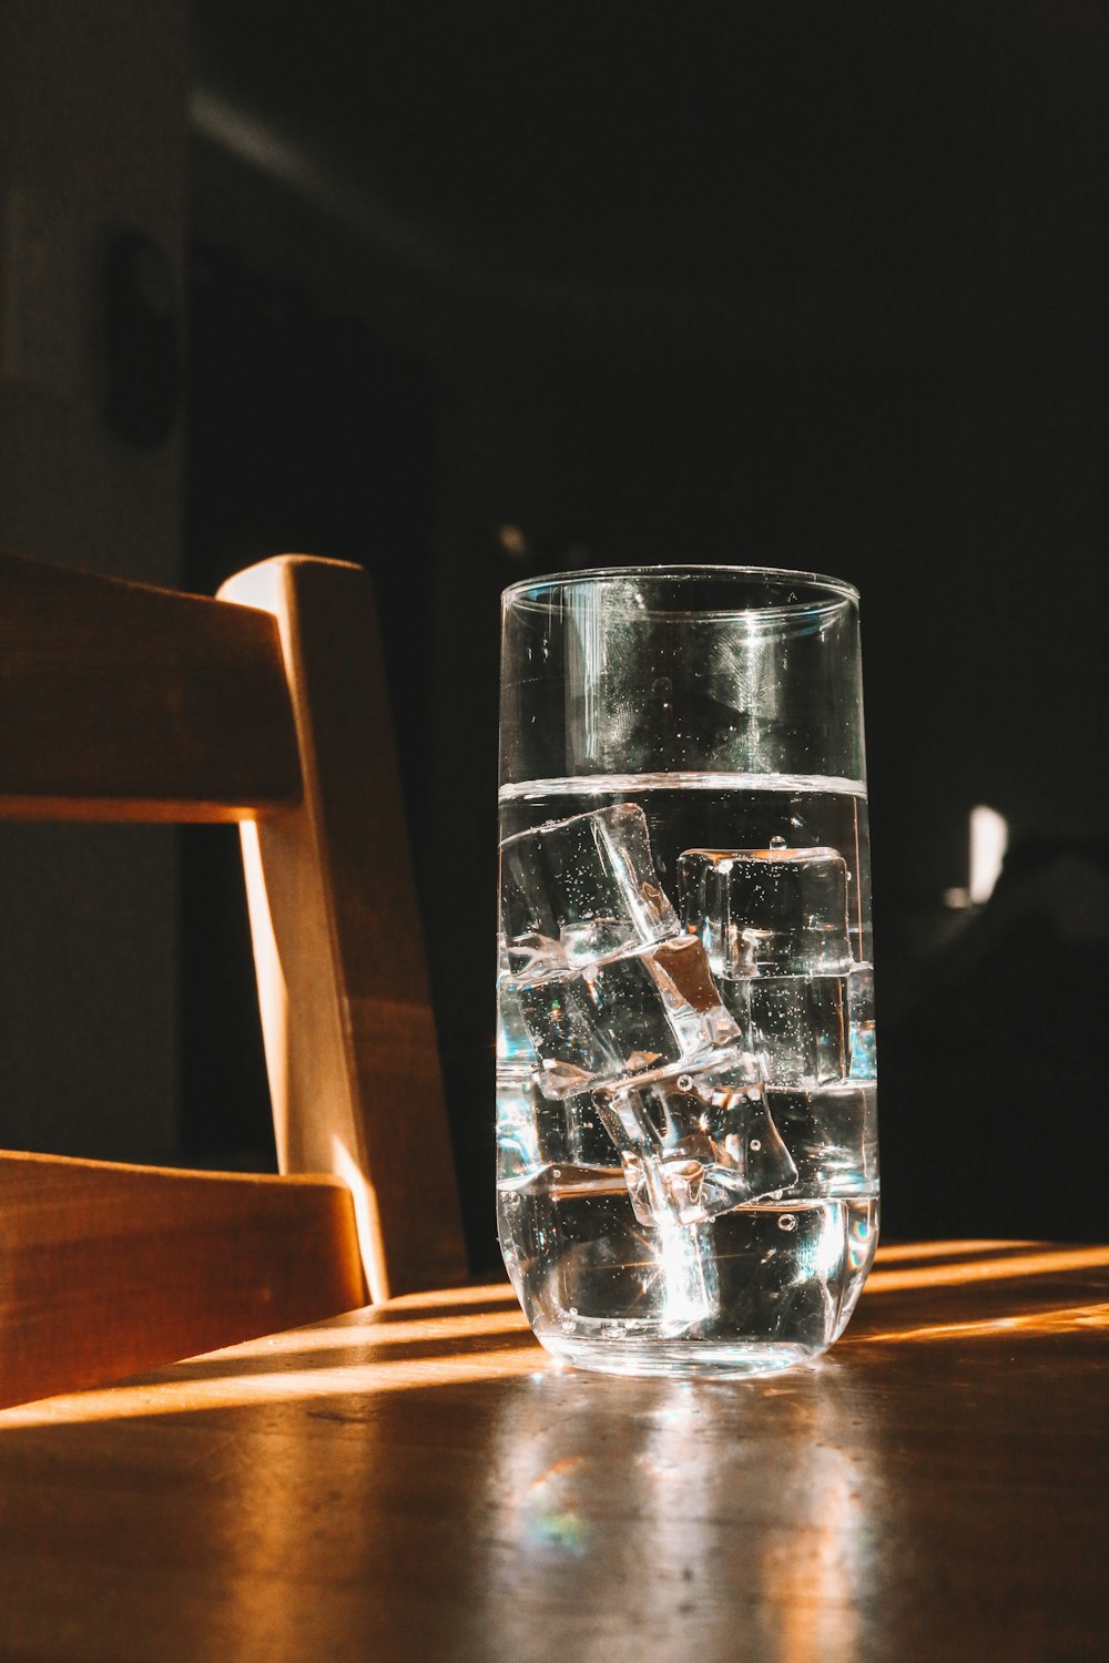
<svg viewBox="0 0 1109 1663">
<path fill-rule="evenodd" d="M 497 1219 L 542 1344 L 765 1374 L 878 1241 L 858 594 L 624 567 L 504 595 Z"/>
</svg>

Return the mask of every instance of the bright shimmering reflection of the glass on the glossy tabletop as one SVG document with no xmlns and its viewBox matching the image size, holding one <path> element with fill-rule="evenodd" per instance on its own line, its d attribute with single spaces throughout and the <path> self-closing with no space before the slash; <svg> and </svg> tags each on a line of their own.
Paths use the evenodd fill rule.
<svg viewBox="0 0 1109 1663">
<path fill-rule="evenodd" d="M 490 1656 L 529 1655 L 539 1585 L 567 1656 L 632 1635 L 650 1656 L 855 1655 L 876 1530 L 850 1374 L 737 1389 L 544 1370 L 505 1385 L 490 1435 L 504 1542 L 474 1613 Z"/>
</svg>

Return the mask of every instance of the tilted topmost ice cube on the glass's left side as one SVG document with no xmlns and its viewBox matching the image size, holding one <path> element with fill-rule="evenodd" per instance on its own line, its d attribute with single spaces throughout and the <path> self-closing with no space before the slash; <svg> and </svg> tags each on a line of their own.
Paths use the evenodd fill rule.
<svg viewBox="0 0 1109 1663">
<path fill-rule="evenodd" d="M 512 975 L 580 968 L 680 928 L 637 803 L 505 838 L 500 910 Z"/>
</svg>

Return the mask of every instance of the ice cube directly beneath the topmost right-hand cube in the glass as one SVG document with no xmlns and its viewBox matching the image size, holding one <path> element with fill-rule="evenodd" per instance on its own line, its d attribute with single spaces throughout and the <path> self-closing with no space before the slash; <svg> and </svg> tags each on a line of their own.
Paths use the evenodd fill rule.
<svg viewBox="0 0 1109 1663">
<path fill-rule="evenodd" d="M 720 994 L 776 1086 L 816 1086 L 848 1071 L 843 976 L 720 978 Z"/>
</svg>

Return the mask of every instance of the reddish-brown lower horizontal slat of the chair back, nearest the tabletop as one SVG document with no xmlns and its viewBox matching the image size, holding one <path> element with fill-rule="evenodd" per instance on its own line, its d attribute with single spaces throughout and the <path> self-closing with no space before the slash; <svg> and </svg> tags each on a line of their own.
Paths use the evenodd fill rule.
<svg viewBox="0 0 1109 1663">
<path fill-rule="evenodd" d="M 75 1390 L 366 1299 L 351 1196 L 0 1154 L 0 1404 Z"/>
</svg>

